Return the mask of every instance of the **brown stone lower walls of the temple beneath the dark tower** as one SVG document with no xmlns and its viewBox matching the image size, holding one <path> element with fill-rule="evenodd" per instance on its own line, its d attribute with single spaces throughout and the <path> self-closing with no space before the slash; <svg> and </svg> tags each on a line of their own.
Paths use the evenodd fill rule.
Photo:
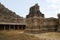
<svg viewBox="0 0 60 40">
<path fill-rule="evenodd" d="M 34 17 L 28 18 L 26 22 L 26 29 L 32 33 L 56 32 L 58 28 L 58 20 L 54 18 Z"/>
</svg>

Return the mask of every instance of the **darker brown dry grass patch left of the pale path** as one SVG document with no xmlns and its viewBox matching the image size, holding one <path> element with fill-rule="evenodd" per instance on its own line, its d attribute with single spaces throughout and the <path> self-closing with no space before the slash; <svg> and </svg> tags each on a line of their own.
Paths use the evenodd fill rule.
<svg viewBox="0 0 60 40">
<path fill-rule="evenodd" d="M 40 40 L 34 35 L 28 35 L 24 31 L 0 31 L 0 40 Z"/>
</svg>

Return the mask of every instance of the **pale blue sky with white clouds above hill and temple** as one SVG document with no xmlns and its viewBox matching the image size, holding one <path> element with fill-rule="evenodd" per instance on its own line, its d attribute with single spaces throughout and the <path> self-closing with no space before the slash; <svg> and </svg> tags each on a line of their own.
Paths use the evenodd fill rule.
<svg viewBox="0 0 60 40">
<path fill-rule="evenodd" d="M 57 18 L 57 14 L 60 13 L 60 0 L 0 0 L 0 3 L 21 17 L 26 17 L 29 8 L 36 3 L 46 18 Z"/>
</svg>

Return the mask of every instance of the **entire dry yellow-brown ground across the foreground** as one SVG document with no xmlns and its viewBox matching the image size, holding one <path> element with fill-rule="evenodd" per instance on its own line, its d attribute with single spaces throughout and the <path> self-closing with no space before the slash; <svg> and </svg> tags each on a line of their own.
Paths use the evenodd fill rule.
<svg viewBox="0 0 60 40">
<path fill-rule="evenodd" d="M 0 40 L 60 40 L 60 33 L 24 33 L 23 30 L 0 31 Z"/>
</svg>

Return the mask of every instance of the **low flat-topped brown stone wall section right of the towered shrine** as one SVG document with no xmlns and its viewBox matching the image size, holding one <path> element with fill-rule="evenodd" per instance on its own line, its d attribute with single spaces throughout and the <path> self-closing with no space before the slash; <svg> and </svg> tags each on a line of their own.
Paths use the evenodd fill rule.
<svg viewBox="0 0 60 40">
<path fill-rule="evenodd" d="M 44 20 L 44 28 L 46 28 L 46 31 L 57 31 L 57 26 L 58 26 L 58 20 L 56 18 L 46 18 Z"/>
</svg>

